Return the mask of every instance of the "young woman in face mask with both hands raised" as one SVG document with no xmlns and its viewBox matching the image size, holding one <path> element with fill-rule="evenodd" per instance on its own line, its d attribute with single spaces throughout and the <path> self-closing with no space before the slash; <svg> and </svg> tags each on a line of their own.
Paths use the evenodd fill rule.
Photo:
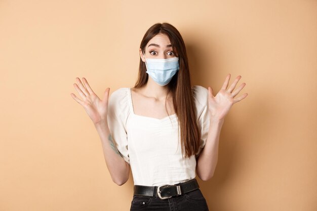
<svg viewBox="0 0 317 211">
<path fill-rule="evenodd" d="M 216 96 L 208 87 L 190 85 L 185 44 L 179 31 L 157 23 L 145 33 L 140 49 L 139 77 L 133 88 L 100 100 L 76 78 L 81 104 L 96 126 L 106 165 L 117 185 L 134 180 L 131 210 L 208 210 L 195 179 L 213 177 L 224 117 L 246 83 L 228 88 L 230 74 Z M 235 89 L 235 90 L 234 90 Z M 195 173 L 196 171 L 196 173 Z"/>
</svg>

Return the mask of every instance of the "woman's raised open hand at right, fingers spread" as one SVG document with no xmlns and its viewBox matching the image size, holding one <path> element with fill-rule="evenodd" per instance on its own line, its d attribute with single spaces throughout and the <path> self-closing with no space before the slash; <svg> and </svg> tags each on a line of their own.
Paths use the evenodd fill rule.
<svg viewBox="0 0 317 211">
<path fill-rule="evenodd" d="M 245 93 L 241 97 L 234 99 L 234 97 L 239 94 L 239 92 L 246 86 L 246 83 L 242 83 L 239 88 L 234 90 L 240 78 L 241 75 L 238 75 L 231 86 L 227 89 L 230 79 L 230 74 L 228 74 L 221 90 L 215 97 L 213 96 L 213 90 L 211 87 L 208 87 L 208 109 L 210 118 L 215 120 L 223 120 L 234 103 L 239 102 L 248 96 L 248 94 Z"/>
</svg>

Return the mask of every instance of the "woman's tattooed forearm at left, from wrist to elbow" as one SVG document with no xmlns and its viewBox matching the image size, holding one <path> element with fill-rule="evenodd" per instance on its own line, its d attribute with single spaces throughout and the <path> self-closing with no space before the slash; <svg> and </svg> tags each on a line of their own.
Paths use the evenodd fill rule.
<svg viewBox="0 0 317 211">
<path fill-rule="evenodd" d="M 104 158 L 111 179 L 117 185 L 123 185 L 129 179 L 130 166 L 116 149 L 107 122 L 95 124 L 99 134 Z"/>
</svg>

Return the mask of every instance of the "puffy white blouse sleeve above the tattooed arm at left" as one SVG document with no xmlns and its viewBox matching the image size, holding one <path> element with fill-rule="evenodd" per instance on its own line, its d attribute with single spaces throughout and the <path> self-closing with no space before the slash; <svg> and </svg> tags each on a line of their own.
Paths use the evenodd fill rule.
<svg viewBox="0 0 317 211">
<path fill-rule="evenodd" d="M 108 101 L 108 126 L 114 145 L 130 164 L 126 122 L 129 115 L 128 89 L 121 88 L 114 91 Z"/>
</svg>

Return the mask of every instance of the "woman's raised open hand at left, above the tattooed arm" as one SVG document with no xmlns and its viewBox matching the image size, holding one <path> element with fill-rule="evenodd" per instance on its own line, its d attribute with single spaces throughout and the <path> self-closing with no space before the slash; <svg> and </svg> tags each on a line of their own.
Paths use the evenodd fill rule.
<svg viewBox="0 0 317 211">
<path fill-rule="evenodd" d="M 86 112 L 88 113 L 91 120 L 93 120 L 94 124 L 97 123 L 107 123 L 107 110 L 108 110 L 108 97 L 109 97 L 109 88 L 107 88 L 104 92 L 103 100 L 100 100 L 99 97 L 93 92 L 90 88 L 86 78 L 83 77 L 84 85 L 78 77 L 76 77 L 76 83 L 74 83 L 74 87 L 77 90 L 78 94 L 82 97 L 82 100 L 77 98 L 73 93 L 71 93 L 71 97 L 77 101 L 77 103 L 81 104 Z"/>
</svg>

